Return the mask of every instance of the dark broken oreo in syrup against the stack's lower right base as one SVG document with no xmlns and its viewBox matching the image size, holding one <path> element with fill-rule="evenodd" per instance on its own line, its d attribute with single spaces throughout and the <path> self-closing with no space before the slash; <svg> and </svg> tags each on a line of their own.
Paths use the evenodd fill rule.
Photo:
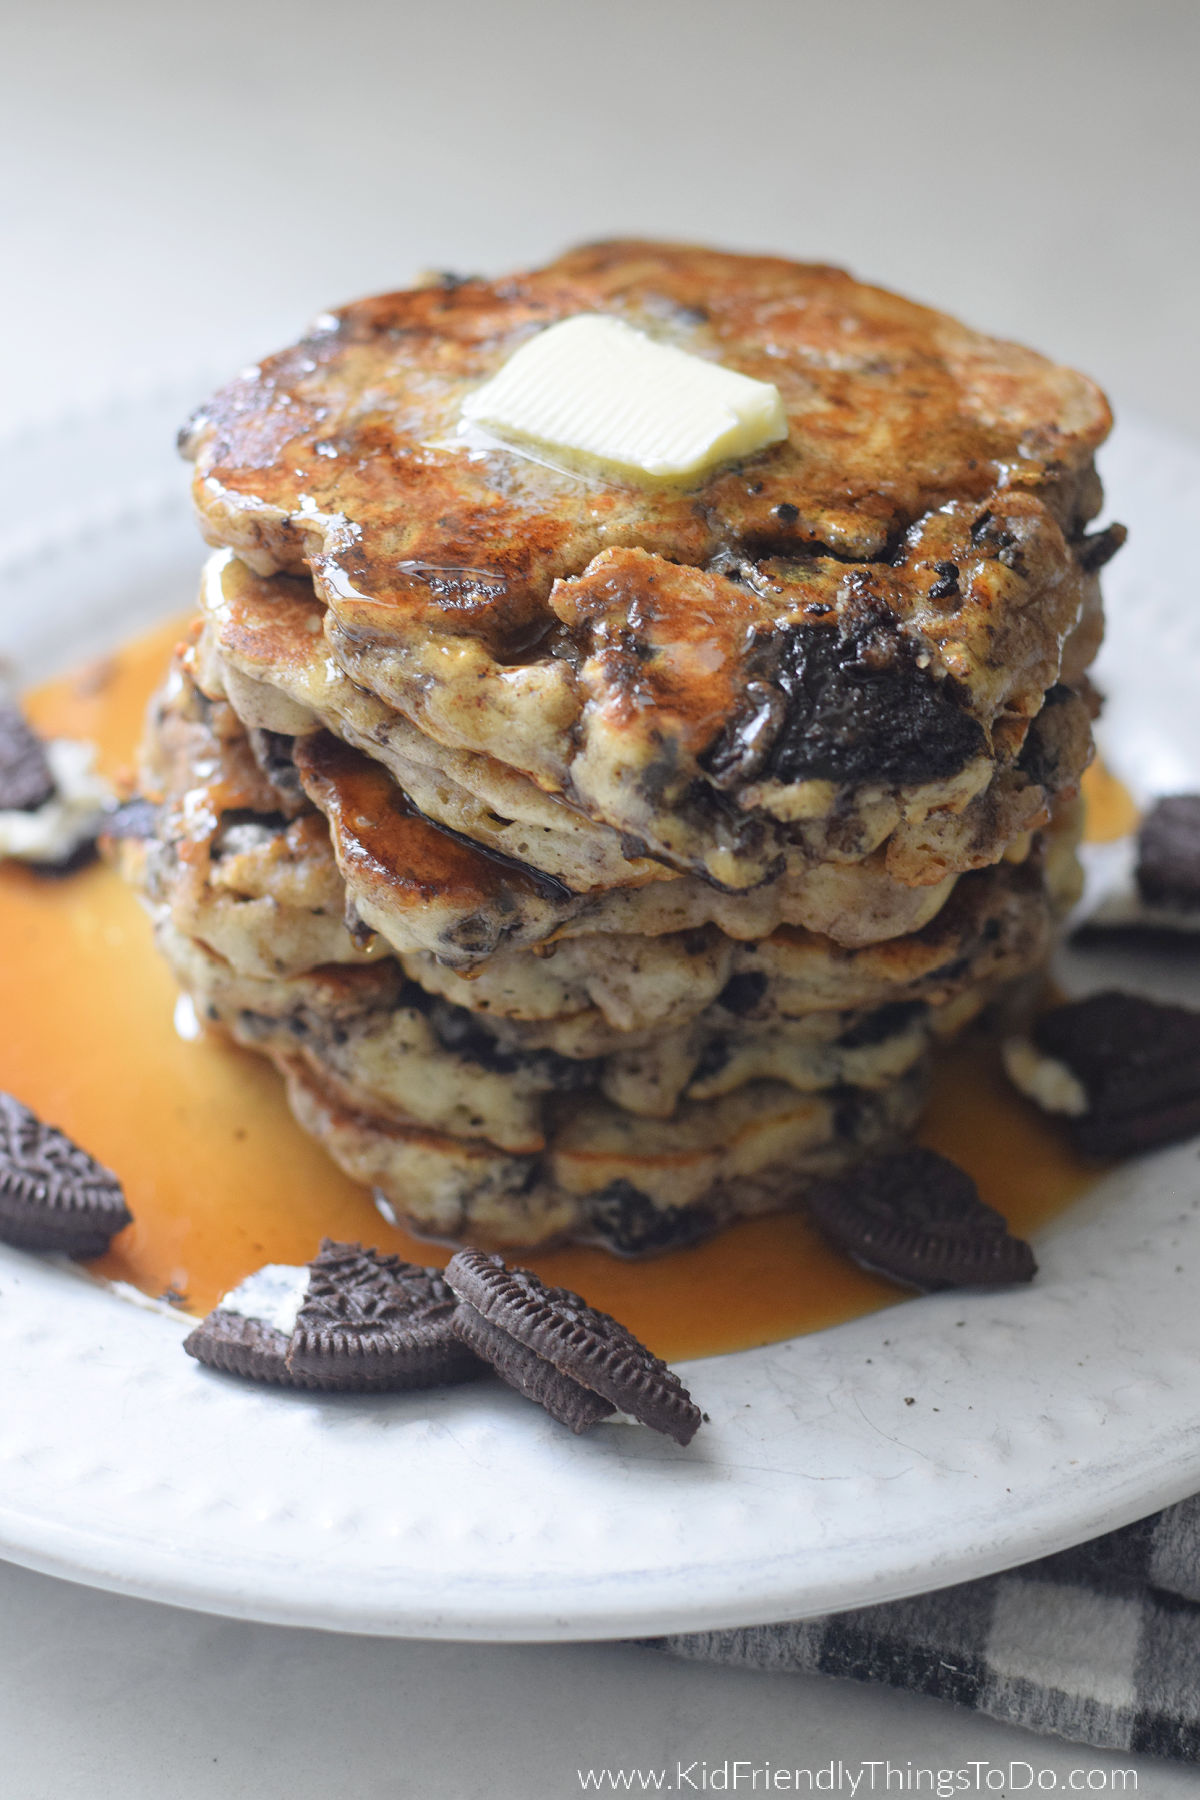
<svg viewBox="0 0 1200 1800">
<path fill-rule="evenodd" d="M 804 1193 L 813 1224 L 864 1269 L 921 1292 L 1007 1287 L 1036 1274 L 1033 1249 L 936 1150 L 878 1156 Z"/>
</svg>

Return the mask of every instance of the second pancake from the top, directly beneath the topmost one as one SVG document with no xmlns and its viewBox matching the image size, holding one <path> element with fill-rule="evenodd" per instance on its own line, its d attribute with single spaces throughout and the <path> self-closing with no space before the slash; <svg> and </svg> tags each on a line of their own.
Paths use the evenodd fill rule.
<svg viewBox="0 0 1200 1800">
<path fill-rule="evenodd" d="M 254 576 L 221 554 L 207 567 L 201 610 L 198 671 L 209 693 L 227 695 L 250 725 L 300 738 L 326 727 L 380 761 L 421 814 L 480 848 L 549 875 L 576 895 L 662 882 L 671 877 L 669 864 L 680 864 L 662 832 L 651 846 L 662 860 L 630 857 L 633 848 L 646 848 L 642 837 L 631 841 L 628 832 L 597 824 L 495 756 L 437 745 L 383 706 L 331 659 L 322 632 L 327 616 L 306 583 Z M 653 657 L 648 666 L 655 666 Z M 633 711 L 648 731 L 658 731 L 669 718 L 669 706 L 649 689 Z M 887 779 L 880 779 L 860 785 L 853 803 L 828 781 L 819 783 L 819 803 L 810 808 L 815 794 L 810 785 L 802 803 L 810 815 L 788 819 L 788 844 L 763 839 L 754 882 L 795 887 L 815 866 L 867 864 L 864 875 L 871 886 L 882 886 L 878 900 L 887 913 L 892 895 L 880 877 L 901 887 L 939 886 L 950 875 L 997 862 L 1013 839 L 1045 819 L 1056 796 L 1074 792 L 1090 756 L 1088 704 L 1060 682 L 1043 697 L 1007 761 L 973 758 L 964 770 L 912 788 L 903 806 Z M 691 779 L 687 792 L 696 788 Z M 687 805 L 676 794 L 669 819 L 682 819 Z M 669 837 L 673 828 L 667 823 L 662 830 Z M 736 821 L 721 842 L 741 857 Z M 721 866 L 720 880 L 729 877 L 725 886 L 741 891 L 750 886 L 748 869 L 745 860 L 736 869 Z M 712 868 L 700 868 L 700 875 L 712 878 Z M 855 916 L 860 909 L 851 904 L 842 911 Z M 862 911 L 876 914 L 874 895 Z"/>
</svg>

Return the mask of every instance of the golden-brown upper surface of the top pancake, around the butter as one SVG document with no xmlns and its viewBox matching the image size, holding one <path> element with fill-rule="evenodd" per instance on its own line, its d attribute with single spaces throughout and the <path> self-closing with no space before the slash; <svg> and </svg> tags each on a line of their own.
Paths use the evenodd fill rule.
<svg viewBox="0 0 1200 1800">
<path fill-rule="evenodd" d="M 518 344 L 590 310 L 774 382 L 790 439 L 687 491 L 437 448 Z M 372 637 L 416 608 L 513 657 L 545 630 L 551 581 L 615 544 L 689 563 L 811 544 L 876 560 L 930 509 L 1000 486 L 1076 524 L 1074 484 L 1108 423 L 1085 376 L 842 270 L 615 241 L 326 315 L 223 389 L 187 445 L 218 542 L 297 574 L 317 554 L 347 625 Z"/>
</svg>

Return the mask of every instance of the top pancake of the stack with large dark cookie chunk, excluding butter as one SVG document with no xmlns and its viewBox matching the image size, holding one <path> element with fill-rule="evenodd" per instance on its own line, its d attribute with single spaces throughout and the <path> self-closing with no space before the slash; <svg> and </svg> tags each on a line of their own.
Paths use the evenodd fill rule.
<svg viewBox="0 0 1200 1800">
<path fill-rule="evenodd" d="M 678 488 L 457 436 L 579 311 L 774 382 L 790 437 Z M 347 306 L 185 450 L 205 535 L 311 571 L 354 682 L 738 887 L 763 821 L 1018 752 L 1087 616 L 1108 423 L 1083 376 L 838 270 L 610 243 Z"/>
</svg>

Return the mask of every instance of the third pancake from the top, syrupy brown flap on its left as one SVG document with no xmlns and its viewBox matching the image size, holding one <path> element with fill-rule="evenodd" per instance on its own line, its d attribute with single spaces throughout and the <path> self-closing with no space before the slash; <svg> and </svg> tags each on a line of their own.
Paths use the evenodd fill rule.
<svg viewBox="0 0 1200 1800">
<path fill-rule="evenodd" d="M 113 848 L 173 929 L 239 974 L 300 974 L 394 952 L 428 994 L 506 1021 L 502 1035 L 513 1048 L 592 1057 L 678 1030 L 718 1001 L 727 1033 L 739 1019 L 912 999 L 941 1004 L 964 986 L 1009 981 L 1045 954 L 1051 900 L 1038 848 L 1024 864 L 964 877 L 928 925 L 874 947 L 846 949 L 788 927 L 739 943 L 707 925 L 660 936 L 560 936 L 457 970 L 430 950 L 405 952 L 351 931 L 344 916 L 371 911 L 363 869 L 372 884 L 387 878 L 394 907 L 416 927 L 455 902 L 497 914 L 506 886 L 497 887 L 491 859 L 414 817 L 378 765 L 324 734 L 293 745 L 295 761 L 290 740 L 252 742 L 225 702 L 196 689 L 187 661 L 185 652 L 148 722 L 142 778 L 157 805 L 146 814 L 146 835 L 139 842 L 126 832 Z M 326 821 L 308 806 L 297 774 L 309 788 L 320 778 L 336 790 L 336 806 L 329 796 L 326 805 L 358 846 L 344 857 L 345 886 Z M 380 835 L 389 837 L 385 857 Z"/>
</svg>

